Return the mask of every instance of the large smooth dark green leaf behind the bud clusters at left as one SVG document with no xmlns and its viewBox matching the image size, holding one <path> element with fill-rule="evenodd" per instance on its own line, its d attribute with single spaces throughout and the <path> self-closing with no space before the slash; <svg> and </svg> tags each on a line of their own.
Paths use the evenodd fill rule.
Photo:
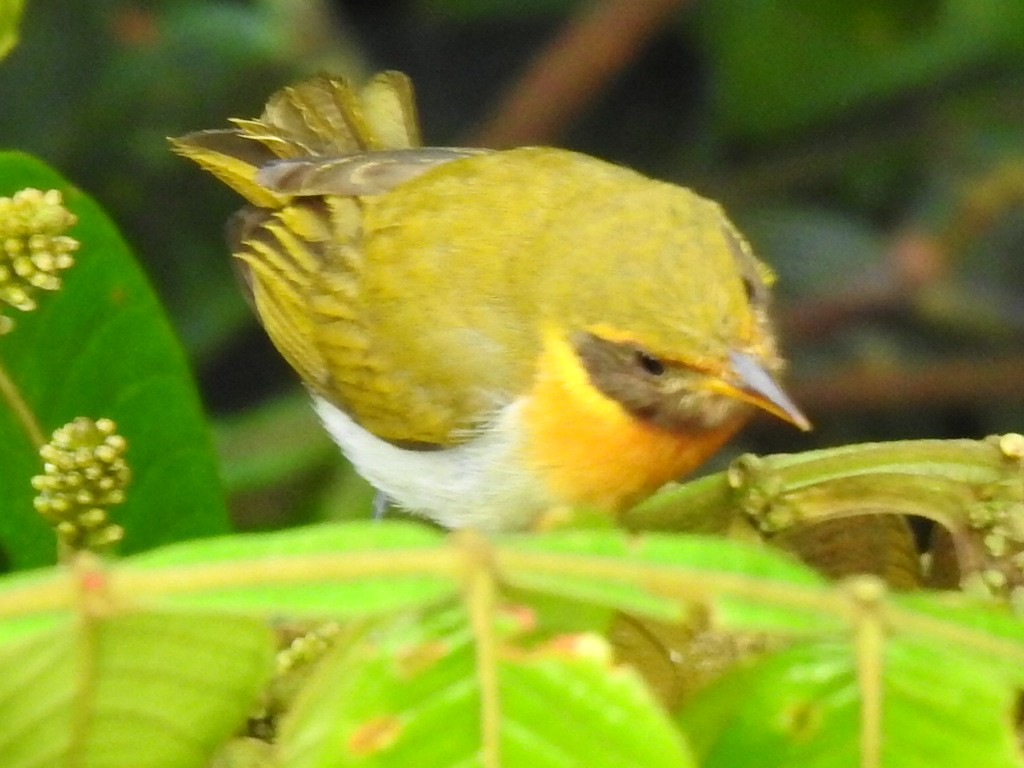
<svg viewBox="0 0 1024 768">
<path fill-rule="evenodd" d="M 81 243 L 63 288 L 17 312 L 0 360 L 44 432 L 106 417 L 128 440 L 132 481 L 112 511 L 135 552 L 227 529 L 210 437 L 184 354 L 131 252 L 100 208 L 39 161 L 0 154 L 0 195 L 59 189 Z M 51 562 L 55 545 L 32 507 L 35 446 L 0 401 L 0 544 L 14 567 Z"/>
</svg>

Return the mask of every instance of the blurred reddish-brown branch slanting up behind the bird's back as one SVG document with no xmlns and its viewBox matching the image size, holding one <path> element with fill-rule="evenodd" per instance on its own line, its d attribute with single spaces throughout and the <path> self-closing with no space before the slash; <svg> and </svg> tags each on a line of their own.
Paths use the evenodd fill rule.
<svg viewBox="0 0 1024 768">
<path fill-rule="evenodd" d="M 684 2 L 585 4 L 534 58 L 469 143 L 504 148 L 552 142 Z"/>
</svg>

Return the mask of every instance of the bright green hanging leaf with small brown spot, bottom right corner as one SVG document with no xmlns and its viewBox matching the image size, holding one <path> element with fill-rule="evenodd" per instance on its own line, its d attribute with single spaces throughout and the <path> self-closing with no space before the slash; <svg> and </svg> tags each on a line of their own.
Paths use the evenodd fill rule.
<svg viewBox="0 0 1024 768">
<path fill-rule="evenodd" d="M 1016 690 L 998 665 L 891 638 L 883 659 L 880 765 L 1020 768 Z M 861 765 L 863 697 L 849 643 L 801 643 L 731 673 L 681 713 L 700 765 Z"/>
</svg>

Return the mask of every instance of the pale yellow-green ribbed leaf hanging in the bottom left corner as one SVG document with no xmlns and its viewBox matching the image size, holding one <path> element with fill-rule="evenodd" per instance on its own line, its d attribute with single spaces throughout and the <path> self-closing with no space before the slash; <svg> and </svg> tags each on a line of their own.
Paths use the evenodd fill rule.
<svg viewBox="0 0 1024 768">
<path fill-rule="evenodd" d="M 251 618 L 84 617 L 0 647 L 5 768 L 200 768 L 271 669 Z"/>
</svg>

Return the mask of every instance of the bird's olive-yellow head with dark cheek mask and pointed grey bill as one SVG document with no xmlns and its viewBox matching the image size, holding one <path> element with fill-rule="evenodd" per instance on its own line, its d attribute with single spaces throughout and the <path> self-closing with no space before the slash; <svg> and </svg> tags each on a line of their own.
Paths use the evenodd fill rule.
<svg viewBox="0 0 1024 768">
<path fill-rule="evenodd" d="M 581 280 L 566 331 L 591 384 L 668 429 L 713 430 L 750 406 L 809 429 L 778 383 L 768 267 L 717 204 L 689 190 L 632 205 L 645 229 L 630 236 L 618 222 L 603 285 L 591 299 Z"/>
</svg>

